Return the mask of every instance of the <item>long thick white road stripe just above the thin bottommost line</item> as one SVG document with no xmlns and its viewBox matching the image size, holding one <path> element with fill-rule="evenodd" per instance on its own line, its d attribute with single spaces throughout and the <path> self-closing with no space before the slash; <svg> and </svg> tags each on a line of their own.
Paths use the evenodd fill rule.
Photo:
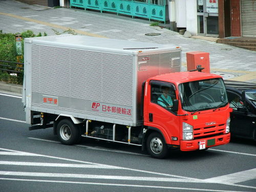
<svg viewBox="0 0 256 192">
<path fill-rule="evenodd" d="M 130 181 L 159 181 L 159 182 L 190 182 L 201 183 L 190 179 L 164 178 L 164 177 L 131 177 L 114 175 L 89 175 L 89 174 L 63 174 L 63 173 L 36 173 L 36 172 L 5 172 L 0 171 L 0 175 L 5 176 L 27 176 L 27 177 L 65 177 L 82 179 L 112 179 L 112 180 L 130 180 Z M 208 182 L 206 182 L 208 183 Z"/>
</svg>

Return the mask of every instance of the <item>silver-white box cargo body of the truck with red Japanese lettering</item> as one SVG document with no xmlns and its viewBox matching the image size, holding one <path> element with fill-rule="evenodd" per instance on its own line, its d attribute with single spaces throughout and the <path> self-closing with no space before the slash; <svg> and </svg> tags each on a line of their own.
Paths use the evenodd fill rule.
<svg viewBox="0 0 256 192">
<path fill-rule="evenodd" d="M 180 68 L 180 48 L 168 45 L 79 35 L 26 38 L 26 121 L 36 111 L 140 125 L 143 81 Z"/>
</svg>

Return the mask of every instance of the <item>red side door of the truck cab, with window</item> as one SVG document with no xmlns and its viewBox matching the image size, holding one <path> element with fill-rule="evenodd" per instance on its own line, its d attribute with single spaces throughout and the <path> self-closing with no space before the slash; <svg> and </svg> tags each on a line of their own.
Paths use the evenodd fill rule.
<svg viewBox="0 0 256 192">
<path fill-rule="evenodd" d="M 163 101 L 163 89 L 168 88 L 167 95 L 172 101 L 177 98 L 174 84 L 151 80 L 147 89 L 144 106 L 144 124 L 160 130 L 167 144 L 179 145 L 180 118 L 169 104 Z M 176 140 L 176 138 L 178 138 Z M 173 139 L 173 140 L 172 140 Z"/>
</svg>

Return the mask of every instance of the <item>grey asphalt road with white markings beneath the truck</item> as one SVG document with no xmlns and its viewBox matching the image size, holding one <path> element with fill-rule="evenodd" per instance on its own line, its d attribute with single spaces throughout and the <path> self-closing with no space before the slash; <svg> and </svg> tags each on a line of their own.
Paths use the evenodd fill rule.
<svg viewBox="0 0 256 192">
<path fill-rule="evenodd" d="M 28 131 L 19 96 L 0 93 L 0 191 L 256 191 L 256 143 L 154 159 L 140 147 Z"/>
</svg>

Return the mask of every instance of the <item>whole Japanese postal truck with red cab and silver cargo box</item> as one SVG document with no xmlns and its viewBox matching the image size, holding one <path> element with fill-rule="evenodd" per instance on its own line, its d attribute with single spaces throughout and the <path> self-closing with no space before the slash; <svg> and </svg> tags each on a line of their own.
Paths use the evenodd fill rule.
<svg viewBox="0 0 256 192">
<path fill-rule="evenodd" d="M 155 158 L 230 140 L 219 75 L 181 71 L 181 48 L 59 35 L 25 39 L 23 102 L 30 130 L 138 145 Z"/>
</svg>

